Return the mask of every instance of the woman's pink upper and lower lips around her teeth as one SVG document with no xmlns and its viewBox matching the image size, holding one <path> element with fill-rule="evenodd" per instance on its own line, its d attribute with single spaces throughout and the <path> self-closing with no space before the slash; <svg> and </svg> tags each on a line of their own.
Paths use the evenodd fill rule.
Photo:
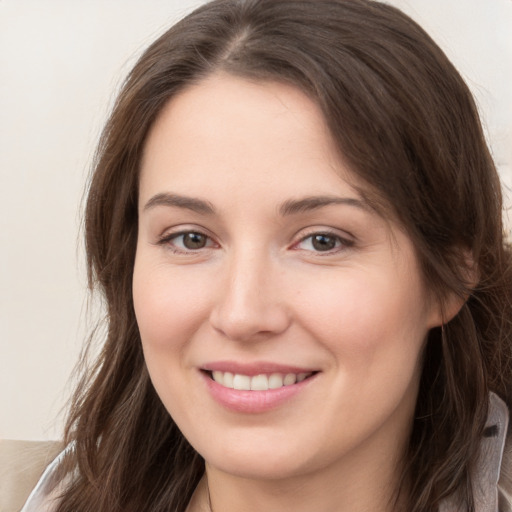
<svg viewBox="0 0 512 512">
<path fill-rule="evenodd" d="M 266 391 L 242 391 L 222 386 L 215 382 L 207 372 L 222 371 L 254 376 L 270 373 L 309 373 L 314 370 L 283 366 L 273 363 L 247 365 L 225 361 L 204 365 L 201 370 L 201 377 L 203 378 L 210 395 L 217 403 L 231 411 L 249 414 L 271 411 L 272 409 L 276 409 L 277 407 L 285 404 L 288 400 L 292 399 L 309 386 L 311 382 L 315 380 L 317 375 L 314 374 L 302 382 L 283 386 L 278 389 L 269 389 Z"/>
</svg>

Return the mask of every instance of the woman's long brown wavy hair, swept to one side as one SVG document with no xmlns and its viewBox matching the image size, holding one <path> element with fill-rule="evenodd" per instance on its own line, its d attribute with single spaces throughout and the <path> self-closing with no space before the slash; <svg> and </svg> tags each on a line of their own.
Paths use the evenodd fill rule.
<svg viewBox="0 0 512 512">
<path fill-rule="evenodd" d="M 142 55 L 101 137 L 85 234 L 89 282 L 104 296 L 108 332 L 72 403 L 73 450 L 61 470 L 73 478 L 58 512 L 182 512 L 203 474 L 149 380 L 131 279 L 148 131 L 171 97 L 217 71 L 308 94 L 368 184 L 363 192 L 408 232 L 430 289 L 440 300 L 467 298 L 429 334 L 403 489 L 410 512 L 436 510 L 454 492 L 472 510 L 470 474 L 489 391 L 512 404 L 512 270 L 500 183 L 467 86 L 391 6 L 215 0 Z"/>
</svg>

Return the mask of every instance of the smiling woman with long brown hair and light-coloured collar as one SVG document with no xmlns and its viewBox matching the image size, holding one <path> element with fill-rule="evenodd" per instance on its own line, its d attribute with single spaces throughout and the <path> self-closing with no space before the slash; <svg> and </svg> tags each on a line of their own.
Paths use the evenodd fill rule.
<svg viewBox="0 0 512 512">
<path fill-rule="evenodd" d="M 501 209 L 466 85 L 400 11 L 199 8 L 103 134 L 107 339 L 26 510 L 509 510 Z"/>
</svg>

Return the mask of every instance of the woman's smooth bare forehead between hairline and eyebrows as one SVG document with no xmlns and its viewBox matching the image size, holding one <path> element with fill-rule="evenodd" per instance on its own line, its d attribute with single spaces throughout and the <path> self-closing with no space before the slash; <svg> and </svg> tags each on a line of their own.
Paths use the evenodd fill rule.
<svg viewBox="0 0 512 512">
<path fill-rule="evenodd" d="M 226 74 L 194 84 L 164 107 L 141 166 L 140 201 L 173 192 L 283 201 L 365 195 L 339 154 L 321 109 L 298 88 Z M 361 193 L 362 192 L 362 193 Z"/>
</svg>

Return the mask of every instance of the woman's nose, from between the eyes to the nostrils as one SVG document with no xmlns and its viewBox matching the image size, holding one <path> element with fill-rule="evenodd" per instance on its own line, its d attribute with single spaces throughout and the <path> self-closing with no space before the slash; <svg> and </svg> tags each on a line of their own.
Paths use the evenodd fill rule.
<svg viewBox="0 0 512 512">
<path fill-rule="evenodd" d="M 211 325 L 223 336 L 255 341 L 281 334 L 290 325 L 279 271 L 269 260 L 253 253 L 226 261 L 210 316 Z"/>
</svg>

